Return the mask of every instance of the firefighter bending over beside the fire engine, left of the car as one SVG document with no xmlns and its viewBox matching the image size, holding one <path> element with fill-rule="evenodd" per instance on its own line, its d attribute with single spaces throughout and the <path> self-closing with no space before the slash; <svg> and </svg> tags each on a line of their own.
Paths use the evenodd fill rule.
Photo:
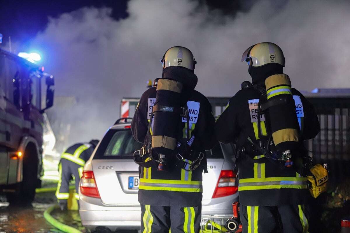
<svg viewBox="0 0 350 233">
<path fill-rule="evenodd" d="M 79 200 L 79 181 L 83 174 L 83 167 L 97 144 L 98 140 L 91 140 L 89 143 L 77 143 L 62 153 L 58 164 L 59 181 L 56 190 L 56 197 L 61 210 L 66 209 L 69 198 L 69 182 L 72 177 L 75 179 L 74 198 Z"/>
</svg>

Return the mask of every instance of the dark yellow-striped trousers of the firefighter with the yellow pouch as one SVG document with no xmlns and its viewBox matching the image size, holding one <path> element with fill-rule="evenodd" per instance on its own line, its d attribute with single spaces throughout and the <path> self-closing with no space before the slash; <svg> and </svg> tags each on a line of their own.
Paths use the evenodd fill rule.
<svg viewBox="0 0 350 233">
<path fill-rule="evenodd" d="M 304 205 L 241 205 L 239 215 L 243 233 L 308 233 Z"/>
</svg>

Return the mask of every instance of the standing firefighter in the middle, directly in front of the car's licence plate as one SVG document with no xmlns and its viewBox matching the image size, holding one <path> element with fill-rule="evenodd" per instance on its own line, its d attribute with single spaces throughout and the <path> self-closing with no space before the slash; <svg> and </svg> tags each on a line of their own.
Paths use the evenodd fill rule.
<svg viewBox="0 0 350 233">
<path fill-rule="evenodd" d="M 199 232 L 205 150 L 213 148 L 215 119 L 194 88 L 192 52 L 175 46 L 161 59 L 162 78 L 142 94 L 131 123 L 139 164 L 141 232 Z"/>
</svg>

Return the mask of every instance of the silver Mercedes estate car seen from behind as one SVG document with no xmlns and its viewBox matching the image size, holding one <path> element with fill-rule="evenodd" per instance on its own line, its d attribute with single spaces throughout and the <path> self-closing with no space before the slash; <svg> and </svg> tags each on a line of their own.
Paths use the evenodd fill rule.
<svg viewBox="0 0 350 233">
<path fill-rule="evenodd" d="M 139 166 L 133 161 L 133 152 L 142 145 L 134 140 L 128 121 L 118 120 L 106 132 L 84 166 L 79 213 L 89 231 L 96 227 L 140 230 Z M 203 174 L 202 218 L 232 217 L 232 203 L 238 201 L 233 151 L 229 144 L 218 144 L 206 153 L 208 173 Z"/>
</svg>

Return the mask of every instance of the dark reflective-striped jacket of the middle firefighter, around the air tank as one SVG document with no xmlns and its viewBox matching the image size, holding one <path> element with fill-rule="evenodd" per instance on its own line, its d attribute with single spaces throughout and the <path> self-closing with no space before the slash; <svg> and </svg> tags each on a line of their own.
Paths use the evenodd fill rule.
<svg viewBox="0 0 350 233">
<path fill-rule="evenodd" d="M 134 138 L 140 143 L 148 143 L 146 135 L 151 117 L 152 101 L 155 101 L 155 98 L 156 87 L 149 88 L 142 94 L 135 110 L 131 130 Z M 185 158 L 186 161 L 191 163 L 198 158 L 199 152 L 205 154 L 205 150 L 210 150 L 216 145 L 215 119 L 208 99 L 200 92 L 192 88 L 185 88 L 182 102 L 183 106 L 187 103 L 189 109 L 190 137 L 195 135 L 195 140 L 191 146 L 192 152 Z M 181 128 L 178 131 L 179 139 L 187 137 L 186 130 L 186 118 L 183 118 Z M 150 131 L 152 133 L 152 128 Z M 176 162 L 177 159 L 173 161 Z M 201 205 L 203 166 L 207 165 L 202 162 L 201 166 L 189 172 L 180 166 L 162 172 L 159 172 L 155 166 L 150 168 L 139 166 L 139 202 L 144 205 L 181 207 Z"/>
</svg>

